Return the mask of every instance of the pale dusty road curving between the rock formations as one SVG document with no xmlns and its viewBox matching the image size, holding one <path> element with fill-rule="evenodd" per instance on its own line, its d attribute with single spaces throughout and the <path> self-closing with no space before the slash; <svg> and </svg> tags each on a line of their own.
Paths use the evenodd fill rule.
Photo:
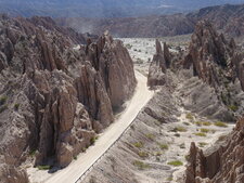
<svg viewBox="0 0 244 183">
<path fill-rule="evenodd" d="M 46 183 L 75 183 L 131 125 L 138 113 L 153 96 L 153 92 L 146 87 L 146 77 L 139 71 L 136 71 L 136 77 L 138 86 L 134 95 L 119 118 L 101 134 L 94 146 L 80 154 L 67 168 L 54 173 Z"/>
</svg>

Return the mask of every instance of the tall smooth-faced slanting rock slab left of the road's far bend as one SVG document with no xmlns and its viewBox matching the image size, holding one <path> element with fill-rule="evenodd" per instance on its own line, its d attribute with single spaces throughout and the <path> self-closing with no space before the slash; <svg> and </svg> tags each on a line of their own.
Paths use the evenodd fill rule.
<svg viewBox="0 0 244 183">
<path fill-rule="evenodd" d="M 106 31 L 98 43 L 88 45 L 87 55 L 102 76 L 113 108 L 118 108 L 128 100 L 136 86 L 133 64 L 128 51 L 121 41 L 114 41 Z"/>
</svg>

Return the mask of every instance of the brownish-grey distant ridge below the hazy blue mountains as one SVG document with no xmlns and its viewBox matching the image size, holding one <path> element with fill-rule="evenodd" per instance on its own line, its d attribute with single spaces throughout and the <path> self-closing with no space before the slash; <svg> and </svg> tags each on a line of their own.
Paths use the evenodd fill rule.
<svg viewBox="0 0 244 183">
<path fill-rule="evenodd" d="M 191 34 L 198 21 L 207 19 L 231 37 L 244 35 L 244 4 L 217 5 L 200 9 L 189 14 L 155 15 L 119 18 L 57 18 L 62 26 L 80 32 L 101 35 L 105 30 L 115 37 L 165 37 Z"/>
</svg>

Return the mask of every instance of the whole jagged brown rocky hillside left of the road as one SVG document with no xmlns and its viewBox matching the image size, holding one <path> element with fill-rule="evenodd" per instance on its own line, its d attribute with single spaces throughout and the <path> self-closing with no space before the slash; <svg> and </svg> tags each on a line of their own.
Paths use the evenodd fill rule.
<svg viewBox="0 0 244 183">
<path fill-rule="evenodd" d="M 51 18 L 1 15 L 0 27 L 0 182 L 26 183 L 23 162 L 67 166 L 137 82 L 127 49 L 107 32 L 84 45 Z"/>
</svg>

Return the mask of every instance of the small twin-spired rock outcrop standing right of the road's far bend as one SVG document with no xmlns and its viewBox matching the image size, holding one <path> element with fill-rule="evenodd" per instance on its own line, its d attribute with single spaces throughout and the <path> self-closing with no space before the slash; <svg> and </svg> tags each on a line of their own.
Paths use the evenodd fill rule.
<svg viewBox="0 0 244 183">
<path fill-rule="evenodd" d="M 166 43 L 164 43 L 164 51 L 160 42 L 156 39 L 156 54 L 150 64 L 147 86 L 153 88 L 155 86 L 163 86 L 166 82 L 165 74 L 170 67 L 171 55 Z"/>
</svg>

